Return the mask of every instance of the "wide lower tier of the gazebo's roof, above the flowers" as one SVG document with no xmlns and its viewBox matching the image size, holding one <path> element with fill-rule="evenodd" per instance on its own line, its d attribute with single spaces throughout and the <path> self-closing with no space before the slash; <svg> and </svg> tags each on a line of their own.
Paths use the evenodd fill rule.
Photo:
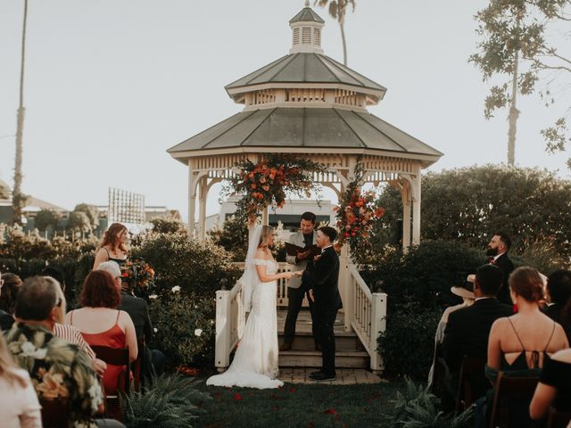
<svg viewBox="0 0 571 428">
<path fill-rule="evenodd" d="M 417 157 L 425 165 L 443 155 L 365 111 L 284 107 L 236 113 L 168 152 L 186 163 L 186 158 L 200 155 L 199 152 L 266 152 L 260 150 L 262 147 L 272 152 L 377 152 Z"/>
</svg>

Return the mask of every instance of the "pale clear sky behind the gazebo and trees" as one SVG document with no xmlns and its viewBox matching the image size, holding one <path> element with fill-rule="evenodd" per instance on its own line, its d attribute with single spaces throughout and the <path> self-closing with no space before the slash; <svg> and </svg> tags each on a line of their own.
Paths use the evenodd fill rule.
<svg viewBox="0 0 571 428">
<path fill-rule="evenodd" d="M 29 0 L 23 192 L 71 210 L 106 205 L 107 189 L 119 187 L 186 218 L 187 171 L 166 150 L 242 110 L 224 86 L 288 53 L 288 21 L 303 3 Z M 443 152 L 431 170 L 505 162 L 507 111 L 484 119 L 489 84 L 468 63 L 473 15 L 486 2 L 356 3 L 345 25 L 348 65 L 388 88 L 368 110 Z M 315 10 L 326 21 L 325 53 L 343 61 L 339 27 Z M 10 185 L 22 12 L 23 0 L 0 2 L 0 178 Z M 568 92 L 550 109 L 520 97 L 517 165 L 570 177 L 567 156 L 545 152 L 538 133 L 568 105 Z"/>
</svg>

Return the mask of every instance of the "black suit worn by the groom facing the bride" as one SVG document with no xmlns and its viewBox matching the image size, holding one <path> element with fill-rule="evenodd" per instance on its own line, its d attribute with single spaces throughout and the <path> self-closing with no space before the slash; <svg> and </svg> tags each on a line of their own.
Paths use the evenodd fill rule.
<svg viewBox="0 0 571 428">
<path fill-rule="evenodd" d="M 321 253 L 312 271 L 303 273 L 304 280 L 313 284 L 314 323 L 317 340 L 321 345 L 324 374 L 335 375 L 335 333 L 333 326 L 337 310 L 341 308 L 339 294 L 339 257 L 333 247 Z"/>
</svg>

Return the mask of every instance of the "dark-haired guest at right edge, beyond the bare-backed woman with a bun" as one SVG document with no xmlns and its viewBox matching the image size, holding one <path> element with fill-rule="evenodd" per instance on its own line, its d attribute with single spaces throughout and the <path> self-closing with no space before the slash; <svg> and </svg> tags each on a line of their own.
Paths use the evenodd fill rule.
<svg viewBox="0 0 571 428">
<path fill-rule="evenodd" d="M 553 272 L 547 279 L 546 294 L 545 315 L 563 327 L 567 341 L 571 342 L 571 319 L 564 310 L 571 301 L 571 271 L 560 269 Z"/>
</svg>

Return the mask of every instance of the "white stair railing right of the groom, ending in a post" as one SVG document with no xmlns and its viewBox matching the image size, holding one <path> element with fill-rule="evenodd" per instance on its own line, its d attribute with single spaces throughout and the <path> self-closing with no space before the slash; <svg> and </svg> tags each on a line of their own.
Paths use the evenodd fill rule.
<svg viewBox="0 0 571 428">
<path fill-rule="evenodd" d="M 372 370 L 383 370 L 383 360 L 377 351 L 377 337 L 386 329 L 385 292 L 370 292 L 355 265 L 349 265 L 349 309 L 351 326 L 371 358 Z"/>
</svg>

